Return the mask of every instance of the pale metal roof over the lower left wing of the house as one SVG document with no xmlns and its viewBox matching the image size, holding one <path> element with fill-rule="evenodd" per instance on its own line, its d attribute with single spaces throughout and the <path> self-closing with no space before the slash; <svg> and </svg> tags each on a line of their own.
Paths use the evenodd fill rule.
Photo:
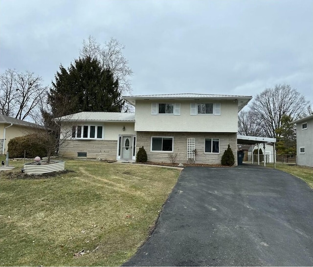
<svg viewBox="0 0 313 267">
<path fill-rule="evenodd" d="M 79 112 L 58 118 L 61 121 L 110 121 L 134 122 L 134 113 L 121 112 Z"/>
</svg>

